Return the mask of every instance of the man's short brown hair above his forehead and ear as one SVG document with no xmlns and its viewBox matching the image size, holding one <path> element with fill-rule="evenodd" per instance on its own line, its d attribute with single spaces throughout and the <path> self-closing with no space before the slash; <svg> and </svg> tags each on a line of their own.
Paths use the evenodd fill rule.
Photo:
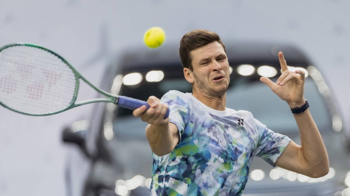
<svg viewBox="0 0 350 196">
<path fill-rule="evenodd" d="M 219 35 L 205 29 L 196 29 L 186 33 L 180 40 L 179 54 L 182 61 L 182 66 L 193 71 L 192 57 L 190 52 L 196 48 L 205 46 L 212 42 L 219 42 L 226 53 L 226 48 Z"/>
</svg>

